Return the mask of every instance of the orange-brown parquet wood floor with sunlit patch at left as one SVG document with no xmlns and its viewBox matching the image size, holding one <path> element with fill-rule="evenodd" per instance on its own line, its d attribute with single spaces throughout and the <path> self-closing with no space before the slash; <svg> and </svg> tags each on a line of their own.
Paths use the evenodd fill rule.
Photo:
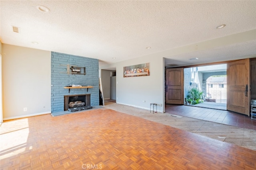
<svg viewBox="0 0 256 170">
<path fill-rule="evenodd" d="M 255 170 L 256 151 L 111 109 L 5 121 L 0 169 Z"/>
</svg>

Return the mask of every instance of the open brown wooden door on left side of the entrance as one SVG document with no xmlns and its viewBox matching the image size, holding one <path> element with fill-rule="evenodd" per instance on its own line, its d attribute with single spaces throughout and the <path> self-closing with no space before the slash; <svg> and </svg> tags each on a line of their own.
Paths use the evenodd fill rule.
<svg viewBox="0 0 256 170">
<path fill-rule="evenodd" d="M 183 68 L 166 69 L 166 104 L 184 104 Z"/>
</svg>

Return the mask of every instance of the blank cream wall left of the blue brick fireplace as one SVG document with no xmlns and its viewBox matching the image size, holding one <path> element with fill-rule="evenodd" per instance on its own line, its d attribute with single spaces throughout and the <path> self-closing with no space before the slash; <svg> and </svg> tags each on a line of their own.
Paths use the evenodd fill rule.
<svg viewBox="0 0 256 170">
<path fill-rule="evenodd" d="M 2 54 L 4 120 L 51 113 L 51 52 L 2 44 Z"/>
</svg>

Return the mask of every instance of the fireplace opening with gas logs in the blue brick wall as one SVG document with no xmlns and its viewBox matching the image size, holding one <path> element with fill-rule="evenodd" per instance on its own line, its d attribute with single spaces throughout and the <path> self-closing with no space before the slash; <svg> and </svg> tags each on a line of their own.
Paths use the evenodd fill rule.
<svg viewBox="0 0 256 170">
<path fill-rule="evenodd" d="M 64 111 L 80 111 L 92 109 L 91 94 L 77 94 L 64 96 Z"/>
</svg>

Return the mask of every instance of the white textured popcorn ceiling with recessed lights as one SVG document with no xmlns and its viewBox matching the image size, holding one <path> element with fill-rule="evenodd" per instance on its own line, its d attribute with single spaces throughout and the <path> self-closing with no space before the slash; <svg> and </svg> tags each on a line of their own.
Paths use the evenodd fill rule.
<svg viewBox="0 0 256 170">
<path fill-rule="evenodd" d="M 0 0 L 0 10 L 2 43 L 96 58 L 100 65 L 154 53 L 179 66 L 256 57 L 256 0 Z"/>
</svg>

